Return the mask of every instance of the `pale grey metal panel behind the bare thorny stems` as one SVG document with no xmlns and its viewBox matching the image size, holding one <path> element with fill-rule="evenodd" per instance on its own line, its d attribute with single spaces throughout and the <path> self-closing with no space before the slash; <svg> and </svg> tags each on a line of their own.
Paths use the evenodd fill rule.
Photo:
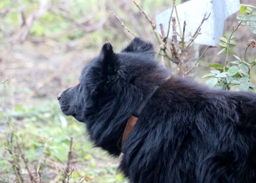
<svg viewBox="0 0 256 183">
<path fill-rule="evenodd" d="M 238 4 L 240 4 L 240 0 L 190 0 L 177 5 L 181 26 L 183 26 L 183 22 L 186 21 L 185 41 L 191 39 L 188 36 L 189 32 L 191 32 L 192 35 L 194 34 L 205 12 L 207 12 L 207 16 L 209 13 L 211 13 L 211 15 L 204 21 L 200 31 L 201 34 L 197 36 L 194 42 L 197 44 L 216 46 L 219 42 L 219 38 L 223 34 L 225 19 L 236 11 L 239 11 L 240 6 L 237 6 Z M 156 15 L 156 25 L 159 32 L 161 32 L 159 24 L 162 23 L 164 32 L 167 33 L 171 11 L 172 8 Z M 173 11 L 172 17 L 176 17 L 175 10 Z M 170 35 L 172 35 L 172 29 L 170 30 Z M 169 38 L 171 38 L 171 36 L 169 36 Z"/>
</svg>

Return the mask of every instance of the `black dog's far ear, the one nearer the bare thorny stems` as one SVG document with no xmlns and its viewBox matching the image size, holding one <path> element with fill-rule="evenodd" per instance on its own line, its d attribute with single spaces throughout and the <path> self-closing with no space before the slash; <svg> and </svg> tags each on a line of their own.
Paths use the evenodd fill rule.
<svg viewBox="0 0 256 183">
<path fill-rule="evenodd" d="M 154 47 L 150 42 L 145 42 L 140 38 L 134 38 L 132 42 L 121 52 L 154 52 Z"/>
</svg>

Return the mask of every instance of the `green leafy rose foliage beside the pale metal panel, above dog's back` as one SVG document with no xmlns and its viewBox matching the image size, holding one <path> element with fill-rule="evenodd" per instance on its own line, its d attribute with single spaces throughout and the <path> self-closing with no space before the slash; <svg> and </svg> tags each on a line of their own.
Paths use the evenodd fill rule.
<svg viewBox="0 0 256 183">
<path fill-rule="evenodd" d="M 252 66 L 255 65 L 254 62 L 246 62 L 246 50 L 249 46 L 255 47 L 255 40 L 249 40 L 248 46 L 245 50 L 244 60 L 240 57 L 233 55 L 236 60 L 228 61 L 228 56 L 232 55 L 232 47 L 236 46 L 237 43 L 234 41 L 236 38 L 232 34 L 240 28 L 240 25 L 248 25 L 252 33 L 256 34 L 256 15 L 252 14 L 252 8 L 256 7 L 252 5 L 239 4 L 240 15 L 236 18 L 239 20 L 237 28 L 231 33 L 230 36 L 223 35 L 220 37 L 220 42 L 218 45 L 222 48 L 218 55 L 227 54 L 226 65 L 223 66 L 219 63 L 210 64 L 208 67 L 217 68 L 217 70 L 212 70 L 210 74 L 204 75 L 204 77 L 211 77 L 206 81 L 206 84 L 215 88 L 220 88 L 222 90 L 230 90 L 232 86 L 238 85 L 240 91 L 253 91 L 256 86 L 250 82 L 250 70 Z M 245 16 L 247 14 L 248 16 Z M 213 77 L 213 78 L 212 78 Z"/>
</svg>

